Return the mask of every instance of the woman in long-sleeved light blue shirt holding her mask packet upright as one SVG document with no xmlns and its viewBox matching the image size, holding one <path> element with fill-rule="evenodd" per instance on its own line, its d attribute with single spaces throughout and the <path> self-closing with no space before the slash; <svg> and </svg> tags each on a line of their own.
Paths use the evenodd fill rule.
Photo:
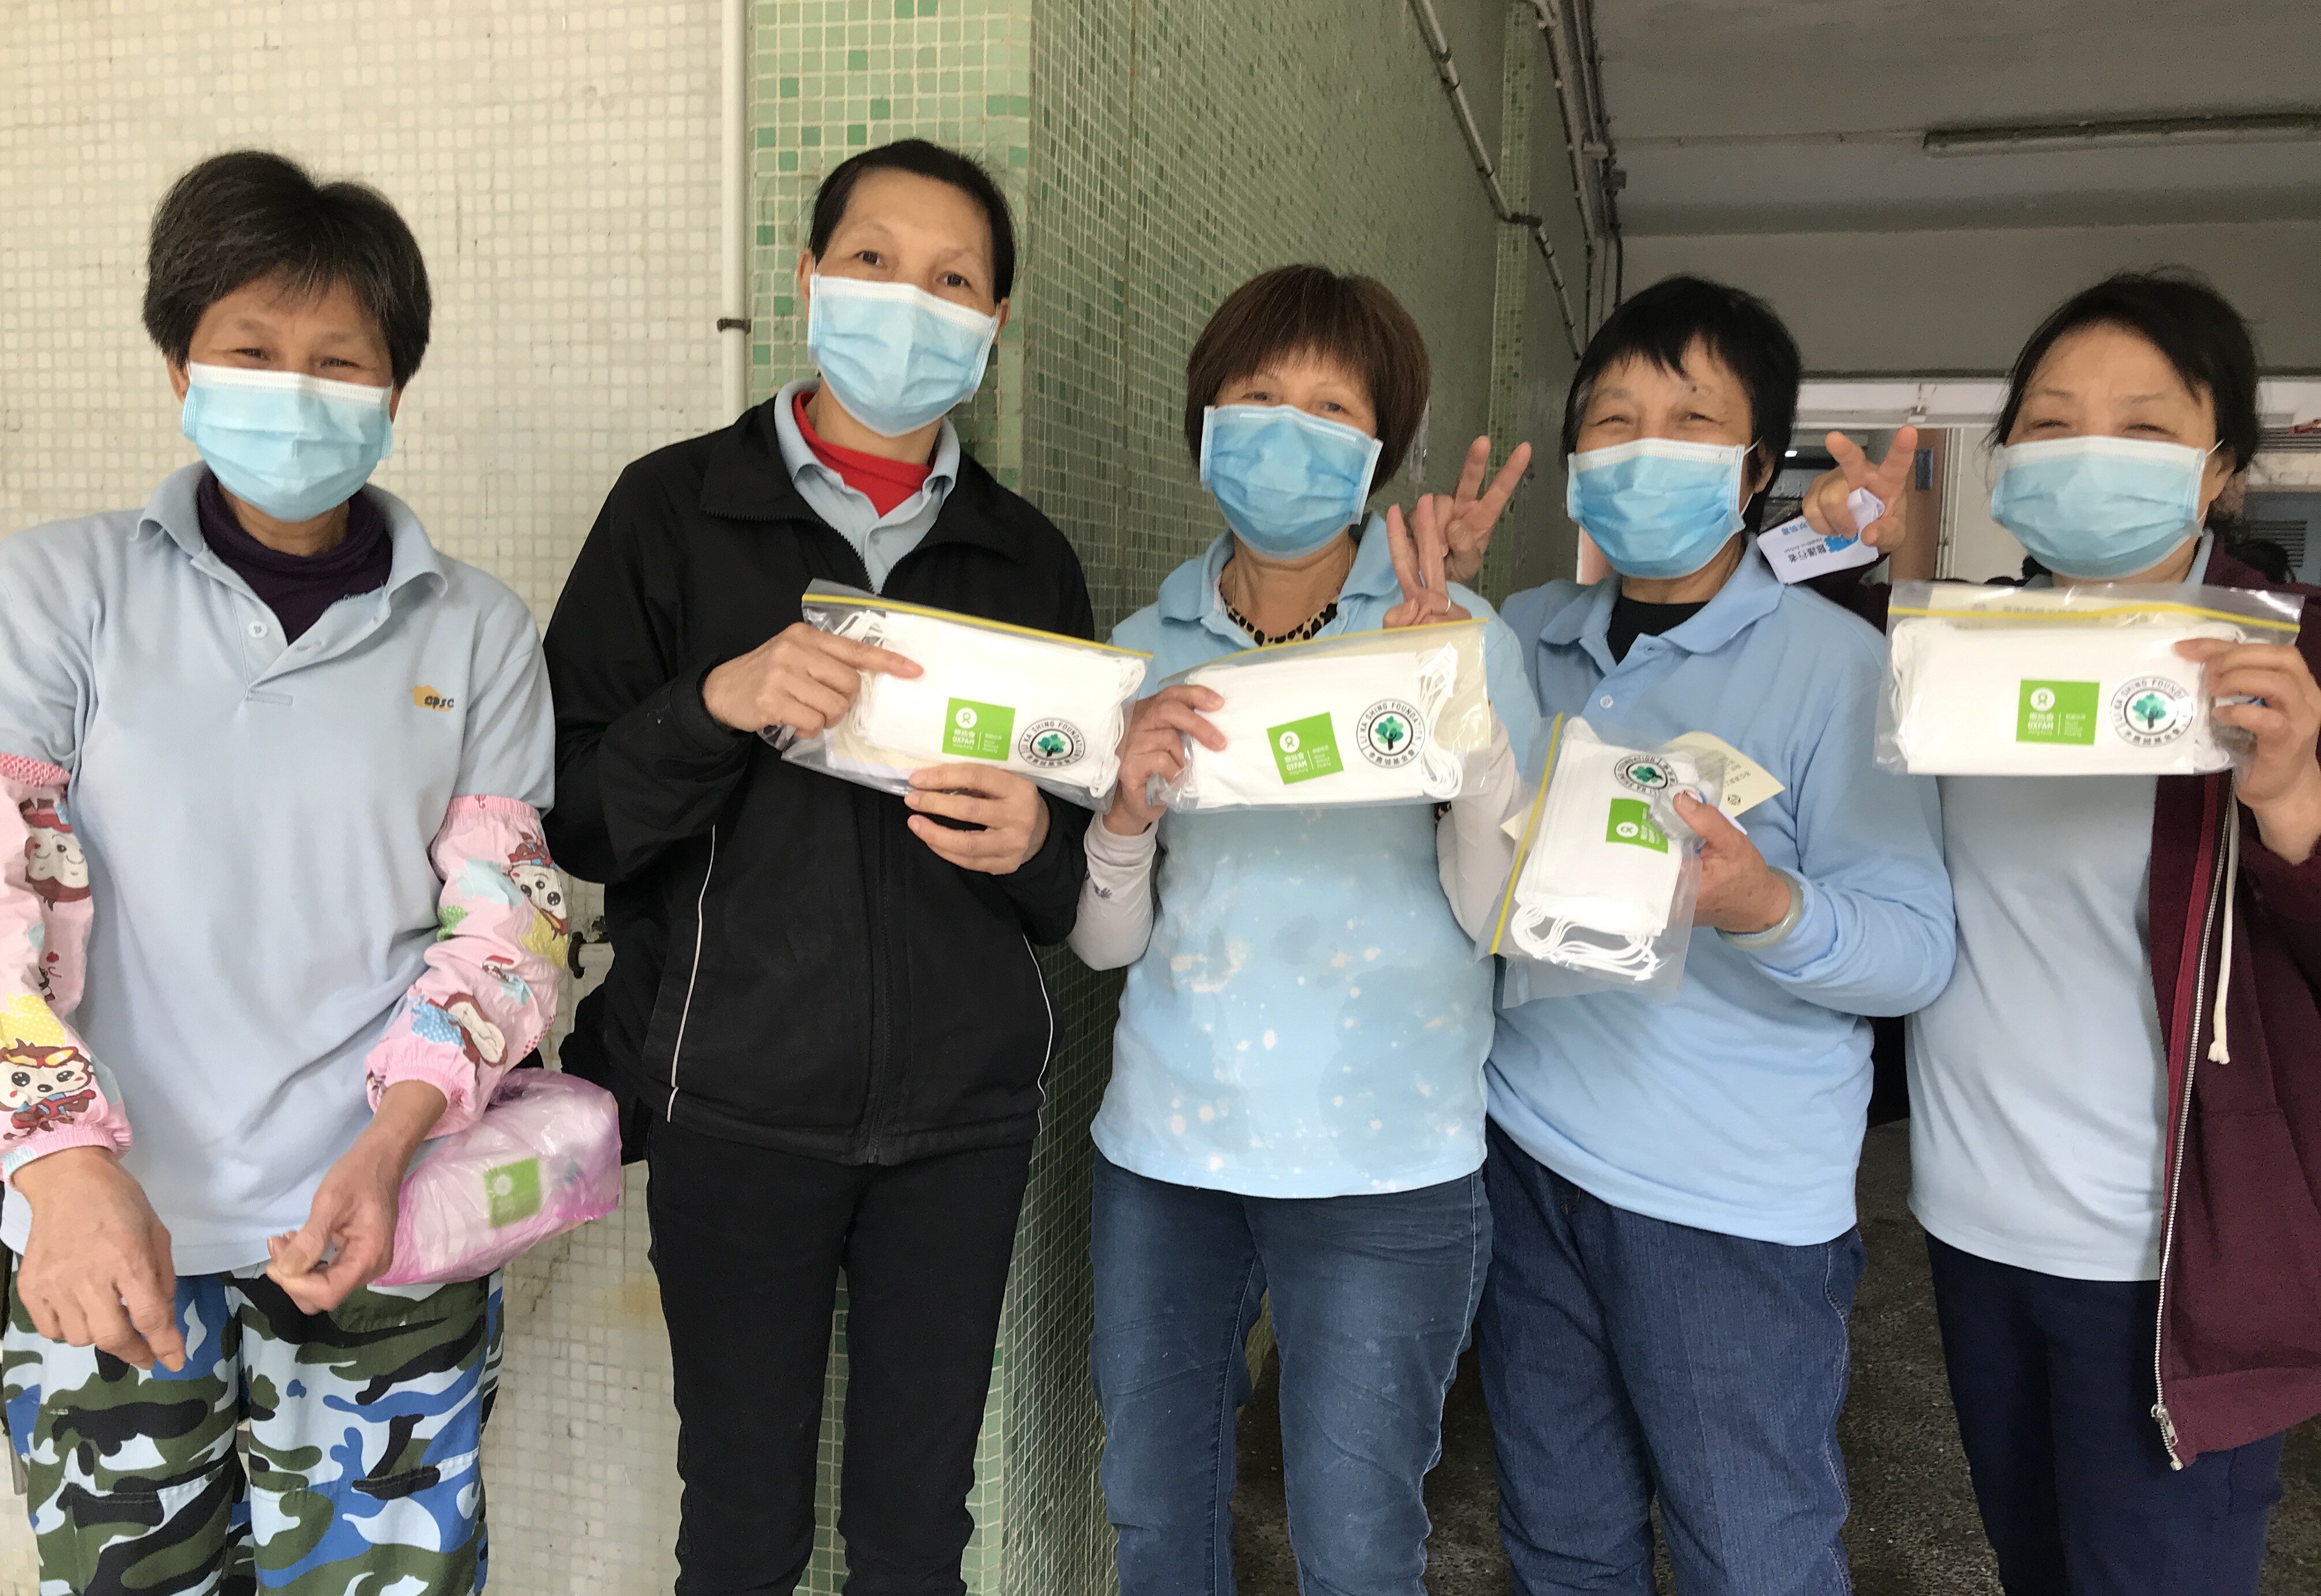
<svg viewBox="0 0 2321 1596">
<path fill-rule="evenodd" d="M 1692 798 L 1683 988 L 1509 1007 L 1490 1053 L 1492 1271 L 1476 1339 L 1520 1591 L 1850 1589 L 1848 1313 L 1871 1014 L 1954 951 L 1933 786 L 1871 763 L 1882 640 L 1750 541 L 1796 413 L 1773 311 L 1669 278 L 1564 408 L 1569 506 L 1613 573 L 1506 601 L 1541 712 L 1706 731 L 1780 784 Z M 1743 828 L 1745 826 L 1745 835 Z"/>
</svg>

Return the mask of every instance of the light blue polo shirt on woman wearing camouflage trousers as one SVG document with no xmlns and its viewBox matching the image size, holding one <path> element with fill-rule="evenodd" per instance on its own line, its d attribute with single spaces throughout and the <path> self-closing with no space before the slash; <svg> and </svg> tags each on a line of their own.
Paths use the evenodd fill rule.
<svg viewBox="0 0 2321 1596">
<path fill-rule="evenodd" d="M 121 1086 L 179 1274 L 262 1264 L 306 1223 L 434 944 L 446 807 L 545 810 L 555 770 L 522 598 L 367 487 L 388 585 L 285 645 L 202 541 L 202 471 L 0 541 L 0 754 L 72 772 L 95 905 L 72 1025 Z M 9 1192 L 0 1239 L 23 1250 L 28 1220 Z"/>
</svg>

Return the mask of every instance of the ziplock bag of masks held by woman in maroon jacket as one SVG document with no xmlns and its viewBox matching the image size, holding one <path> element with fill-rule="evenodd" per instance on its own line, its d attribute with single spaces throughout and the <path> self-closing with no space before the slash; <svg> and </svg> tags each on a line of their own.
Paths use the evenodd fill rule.
<svg viewBox="0 0 2321 1596">
<path fill-rule="evenodd" d="M 2244 587 L 1896 582 L 1878 763 L 1910 775 L 2198 775 L 2244 756 L 2191 638 L 2289 643 L 2302 601 Z"/>
</svg>

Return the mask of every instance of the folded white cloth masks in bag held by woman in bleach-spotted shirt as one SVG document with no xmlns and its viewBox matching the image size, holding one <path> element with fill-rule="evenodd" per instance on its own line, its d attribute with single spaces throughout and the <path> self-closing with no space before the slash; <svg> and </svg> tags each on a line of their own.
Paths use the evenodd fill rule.
<svg viewBox="0 0 2321 1596">
<path fill-rule="evenodd" d="M 1225 701 L 1207 717 L 1225 733 L 1225 747 L 1186 740 L 1184 779 L 1170 807 L 1458 798 L 1465 761 L 1437 735 L 1458 670 L 1460 652 L 1448 643 L 1188 670 L 1188 684 Z"/>
</svg>

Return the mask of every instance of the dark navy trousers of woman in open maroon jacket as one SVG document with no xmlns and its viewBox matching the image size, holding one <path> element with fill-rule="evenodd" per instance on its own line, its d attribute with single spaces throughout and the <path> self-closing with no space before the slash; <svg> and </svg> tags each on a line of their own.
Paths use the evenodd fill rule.
<svg viewBox="0 0 2321 1596">
<path fill-rule="evenodd" d="M 2008 1596 L 2254 1596 L 2282 1436 L 2170 1468 L 2156 1281 L 2066 1281 L 1926 1236 L 1950 1401 Z"/>
</svg>

